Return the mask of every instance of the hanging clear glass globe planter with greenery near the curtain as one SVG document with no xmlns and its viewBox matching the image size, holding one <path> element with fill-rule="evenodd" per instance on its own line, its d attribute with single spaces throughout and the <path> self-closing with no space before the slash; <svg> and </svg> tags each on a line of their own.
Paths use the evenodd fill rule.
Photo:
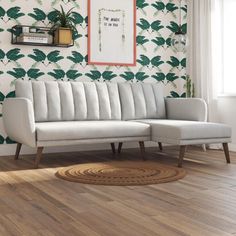
<svg viewBox="0 0 236 236">
<path fill-rule="evenodd" d="M 171 45 L 176 52 L 184 52 L 187 46 L 187 35 L 182 28 L 182 14 L 181 14 L 181 7 L 182 7 L 182 0 L 180 0 L 179 6 L 179 28 L 178 31 L 175 32 L 172 40 Z"/>
</svg>

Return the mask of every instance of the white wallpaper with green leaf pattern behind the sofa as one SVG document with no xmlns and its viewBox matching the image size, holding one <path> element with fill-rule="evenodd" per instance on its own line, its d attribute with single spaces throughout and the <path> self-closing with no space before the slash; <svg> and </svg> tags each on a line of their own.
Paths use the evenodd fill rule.
<svg viewBox="0 0 236 236">
<path fill-rule="evenodd" d="M 186 30 L 185 1 L 181 11 Z M 75 7 L 79 34 L 74 47 L 11 45 L 12 26 L 50 26 L 53 9 L 60 4 L 68 10 Z M 179 0 L 137 0 L 137 66 L 106 67 L 87 65 L 87 0 L 0 0 L 0 144 L 12 142 L 2 124 L 2 102 L 14 96 L 18 79 L 163 83 L 166 96 L 185 96 L 185 53 L 170 47 L 178 28 L 178 5 Z"/>
</svg>

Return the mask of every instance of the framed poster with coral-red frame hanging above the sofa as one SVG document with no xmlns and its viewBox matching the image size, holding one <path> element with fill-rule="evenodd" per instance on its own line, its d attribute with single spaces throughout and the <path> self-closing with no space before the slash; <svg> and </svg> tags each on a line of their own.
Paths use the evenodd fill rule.
<svg viewBox="0 0 236 236">
<path fill-rule="evenodd" d="M 88 0 L 88 63 L 136 65 L 136 0 Z"/>
</svg>

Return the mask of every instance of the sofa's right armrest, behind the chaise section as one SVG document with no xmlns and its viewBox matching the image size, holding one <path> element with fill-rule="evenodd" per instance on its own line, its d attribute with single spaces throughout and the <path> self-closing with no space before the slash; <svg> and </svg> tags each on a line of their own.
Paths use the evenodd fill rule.
<svg viewBox="0 0 236 236">
<path fill-rule="evenodd" d="M 200 98 L 166 98 L 167 118 L 171 120 L 207 121 L 207 105 Z"/>
</svg>

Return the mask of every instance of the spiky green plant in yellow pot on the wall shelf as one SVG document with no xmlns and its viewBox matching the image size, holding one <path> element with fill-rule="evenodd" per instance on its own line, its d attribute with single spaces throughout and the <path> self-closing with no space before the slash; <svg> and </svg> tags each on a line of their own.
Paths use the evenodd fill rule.
<svg viewBox="0 0 236 236">
<path fill-rule="evenodd" d="M 61 11 L 55 9 L 56 15 L 50 32 L 54 32 L 54 43 L 59 45 L 70 45 L 73 43 L 73 34 L 78 33 L 76 29 L 73 10 L 71 8 L 65 12 L 61 6 Z"/>
</svg>

